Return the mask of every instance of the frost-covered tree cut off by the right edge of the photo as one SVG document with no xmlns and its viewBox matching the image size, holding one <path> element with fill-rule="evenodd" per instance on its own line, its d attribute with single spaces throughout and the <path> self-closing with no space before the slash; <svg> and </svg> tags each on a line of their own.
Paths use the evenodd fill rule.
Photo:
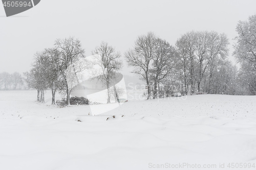
<svg viewBox="0 0 256 170">
<path fill-rule="evenodd" d="M 233 55 L 241 65 L 239 80 L 244 93 L 256 94 L 256 15 L 246 21 L 239 21 L 237 43 Z"/>
</svg>

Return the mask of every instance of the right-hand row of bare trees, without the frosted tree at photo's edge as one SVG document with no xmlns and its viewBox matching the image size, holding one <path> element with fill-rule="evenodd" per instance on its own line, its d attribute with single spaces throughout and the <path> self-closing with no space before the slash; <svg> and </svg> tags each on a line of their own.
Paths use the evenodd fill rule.
<svg viewBox="0 0 256 170">
<path fill-rule="evenodd" d="M 228 93 L 231 80 L 225 80 L 232 75 L 225 69 L 235 69 L 227 60 L 228 44 L 225 34 L 213 31 L 186 33 L 175 46 L 150 32 L 138 37 L 125 58 L 147 85 L 147 99 L 175 91 L 187 94 L 188 89 L 194 93 L 196 85 L 198 92 Z"/>
</svg>

